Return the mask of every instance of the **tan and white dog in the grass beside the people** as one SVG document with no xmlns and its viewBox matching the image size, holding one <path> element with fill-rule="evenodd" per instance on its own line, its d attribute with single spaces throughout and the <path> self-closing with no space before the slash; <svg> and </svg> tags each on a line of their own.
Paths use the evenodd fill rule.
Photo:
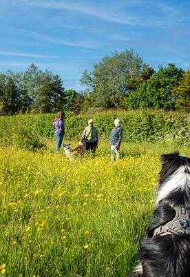
<svg viewBox="0 0 190 277">
<path fill-rule="evenodd" d="M 74 149 L 70 146 L 70 143 L 63 143 L 63 147 L 67 158 L 72 159 L 84 156 L 86 150 L 86 143 L 84 139 L 81 139 L 81 141 L 79 141 L 78 145 Z"/>
</svg>

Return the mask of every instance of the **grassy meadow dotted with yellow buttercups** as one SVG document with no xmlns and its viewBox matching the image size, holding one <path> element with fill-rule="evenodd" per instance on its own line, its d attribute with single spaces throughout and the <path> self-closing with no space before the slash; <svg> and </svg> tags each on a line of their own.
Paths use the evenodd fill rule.
<svg viewBox="0 0 190 277">
<path fill-rule="evenodd" d="M 151 220 L 159 156 L 189 149 L 123 143 L 109 163 L 103 141 L 96 158 L 71 163 L 54 147 L 0 147 L 0 275 L 126 276 Z"/>
</svg>

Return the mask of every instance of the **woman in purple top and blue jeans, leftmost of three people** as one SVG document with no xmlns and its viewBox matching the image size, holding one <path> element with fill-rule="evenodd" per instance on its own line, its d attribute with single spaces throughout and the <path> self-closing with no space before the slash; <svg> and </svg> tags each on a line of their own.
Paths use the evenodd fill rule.
<svg viewBox="0 0 190 277">
<path fill-rule="evenodd" d="M 56 138 L 55 154 L 59 152 L 59 148 L 61 147 L 61 143 L 63 142 L 63 136 L 65 134 L 64 117 L 65 113 L 63 111 L 59 112 L 57 118 L 53 123 Z"/>
</svg>

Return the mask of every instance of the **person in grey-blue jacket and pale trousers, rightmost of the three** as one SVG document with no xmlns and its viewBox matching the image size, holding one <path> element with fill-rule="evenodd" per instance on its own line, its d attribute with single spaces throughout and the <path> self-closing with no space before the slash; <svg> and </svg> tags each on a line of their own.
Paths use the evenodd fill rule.
<svg viewBox="0 0 190 277">
<path fill-rule="evenodd" d="M 110 133 L 109 143 L 111 144 L 111 161 L 113 162 L 116 154 L 116 161 L 120 159 L 120 144 L 123 139 L 123 128 L 121 127 L 121 123 L 119 119 L 115 119 L 114 121 L 115 127 L 112 129 Z"/>
</svg>

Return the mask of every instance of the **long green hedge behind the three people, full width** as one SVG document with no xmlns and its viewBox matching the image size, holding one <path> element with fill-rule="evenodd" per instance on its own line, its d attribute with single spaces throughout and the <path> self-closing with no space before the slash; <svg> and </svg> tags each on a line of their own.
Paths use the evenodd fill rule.
<svg viewBox="0 0 190 277">
<path fill-rule="evenodd" d="M 43 139 L 54 136 L 55 114 L 19 114 L 0 117 L 0 141 L 25 148 L 41 147 Z M 65 140 L 79 140 L 89 119 L 94 119 L 100 139 L 109 139 L 114 119 L 122 122 L 123 141 L 176 141 L 189 145 L 190 116 L 185 112 L 135 110 L 98 112 L 93 115 L 65 116 Z"/>
</svg>

